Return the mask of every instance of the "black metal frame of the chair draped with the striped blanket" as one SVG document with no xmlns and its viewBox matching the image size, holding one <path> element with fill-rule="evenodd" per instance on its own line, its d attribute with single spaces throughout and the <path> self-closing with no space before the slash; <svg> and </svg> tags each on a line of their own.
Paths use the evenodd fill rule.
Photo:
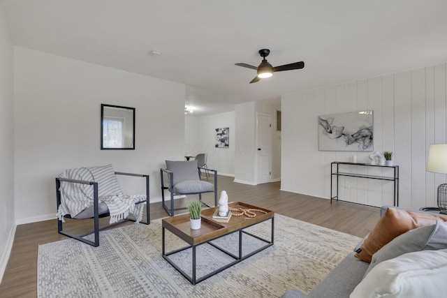
<svg viewBox="0 0 447 298">
<path fill-rule="evenodd" d="M 131 174 L 131 173 L 124 173 L 124 172 L 115 172 L 116 175 L 126 175 L 126 176 L 134 176 L 134 177 L 143 177 L 146 180 L 146 200 L 142 200 L 138 202 L 137 204 L 141 204 L 146 202 L 146 222 L 140 221 L 140 223 L 144 223 L 145 225 L 149 225 L 150 223 L 150 207 L 149 207 L 149 175 L 144 174 Z M 87 232 L 82 235 L 75 235 L 71 232 L 67 232 L 62 227 L 62 221 L 58 219 L 57 221 L 57 230 L 59 234 L 64 234 L 68 237 L 71 237 L 73 239 L 77 239 L 79 241 L 82 241 L 86 244 L 89 244 L 91 246 L 99 246 L 99 232 L 108 228 L 112 228 L 115 225 L 119 225 L 120 223 L 125 223 L 126 221 L 135 221 L 133 218 L 124 218 L 122 221 L 118 221 L 117 223 L 111 223 L 110 225 L 107 225 L 103 228 L 99 228 L 99 218 L 110 216 L 109 212 L 106 212 L 104 214 L 99 214 L 98 206 L 99 206 L 99 200 L 98 200 L 98 182 L 95 181 L 87 181 L 87 180 L 77 180 L 77 179 L 66 179 L 66 178 L 56 178 L 56 198 L 57 198 L 57 209 L 59 209 L 59 205 L 61 204 L 61 193 L 59 191 L 59 188 L 61 187 L 61 181 L 64 182 L 72 182 L 72 183 L 78 183 L 78 184 L 88 184 L 93 186 L 93 193 L 94 193 L 94 230 L 91 232 Z M 66 218 L 71 218 L 69 214 L 64 216 Z M 84 237 L 94 234 L 94 241 L 90 241 L 88 239 L 85 239 Z"/>
</svg>

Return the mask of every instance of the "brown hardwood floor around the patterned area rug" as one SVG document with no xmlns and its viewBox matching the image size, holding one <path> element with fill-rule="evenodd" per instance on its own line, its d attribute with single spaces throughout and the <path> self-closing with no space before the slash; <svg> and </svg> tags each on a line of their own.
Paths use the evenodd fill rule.
<svg viewBox="0 0 447 298">
<path fill-rule="evenodd" d="M 280 182 L 272 182 L 249 186 L 234 183 L 233 177 L 219 176 L 218 178 L 219 192 L 226 191 L 229 202 L 247 202 L 271 209 L 278 214 L 358 237 L 364 237 L 379 220 L 379 208 L 348 202 L 330 204 L 330 201 L 326 199 L 280 191 L 280 185 Z M 212 194 L 204 195 L 203 200 L 212 204 Z M 183 199 L 176 200 L 176 203 L 182 201 Z M 161 202 L 151 204 L 151 220 L 166 216 Z M 104 225 L 108 222 L 108 218 L 101 220 Z M 87 232 L 92 227 L 91 220 L 66 221 L 64 229 L 67 228 L 73 232 Z M 36 297 L 38 245 L 62 239 L 68 239 L 68 237 L 57 232 L 56 219 L 18 225 L 13 250 L 0 284 L 0 297 Z M 54 267 L 57 267 L 57 264 L 54 264 Z"/>
</svg>

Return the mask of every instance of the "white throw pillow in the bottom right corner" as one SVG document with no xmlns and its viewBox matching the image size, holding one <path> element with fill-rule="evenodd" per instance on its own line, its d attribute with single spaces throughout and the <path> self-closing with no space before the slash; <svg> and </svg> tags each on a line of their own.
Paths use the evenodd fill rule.
<svg viewBox="0 0 447 298">
<path fill-rule="evenodd" d="M 447 249 L 405 253 L 374 267 L 350 297 L 444 297 L 446 276 Z"/>
</svg>

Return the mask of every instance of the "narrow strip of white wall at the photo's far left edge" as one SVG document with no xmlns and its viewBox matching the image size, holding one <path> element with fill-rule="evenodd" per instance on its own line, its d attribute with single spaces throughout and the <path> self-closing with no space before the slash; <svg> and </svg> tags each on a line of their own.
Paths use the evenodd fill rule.
<svg viewBox="0 0 447 298">
<path fill-rule="evenodd" d="M 13 43 L 0 2 L 0 282 L 15 232 L 13 98 Z"/>
</svg>

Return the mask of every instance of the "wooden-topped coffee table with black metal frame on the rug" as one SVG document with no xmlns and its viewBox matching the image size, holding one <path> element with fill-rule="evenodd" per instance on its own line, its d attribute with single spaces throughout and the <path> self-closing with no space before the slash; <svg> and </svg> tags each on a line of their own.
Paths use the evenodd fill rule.
<svg viewBox="0 0 447 298">
<path fill-rule="evenodd" d="M 205 279 L 209 278 L 210 276 L 213 276 L 214 274 L 217 274 L 228 267 L 231 267 L 238 262 L 241 262 L 242 260 L 245 260 L 251 255 L 254 255 L 260 251 L 263 251 L 265 248 L 268 248 L 269 246 L 273 245 L 273 237 L 274 237 L 274 211 L 270 211 L 268 209 L 263 209 L 261 207 L 256 207 L 250 204 L 245 204 L 243 202 L 232 202 L 228 204 L 229 207 L 233 208 L 242 208 L 242 209 L 261 209 L 265 211 L 266 213 L 263 214 L 261 212 L 255 212 L 256 217 L 254 218 L 248 218 L 247 216 L 231 216 L 230 221 L 228 223 L 219 223 L 217 221 L 214 221 L 212 219 L 212 214 L 214 214 L 214 211 L 216 209 L 219 209 L 219 207 L 214 207 L 210 209 L 205 209 L 202 211 L 202 225 L 200 230 L 191 230 L 190 223 L 189 223 L 189 214 L 182 214 L 179 216 L 173 216 L 170 218 L 163 218 L 161 221 L 162 223 L 162 255 L 165 260 L 167 260 L 170 265 L 172 265 L 177 271 L 179 271 L 187 280 L 189 280 L 193 285 L 196 283 L 200 283 L 200 281 L 204 281 Z M 234 213 L 233 213 L 234 214 Z M 255 234 L 251 234 L 249 231 L 245 230 L 252 225 L 257 225 L 258 223 L 262 223 L 264 221 L 271 221 L 271 234 L 270 239 L 264 239 L 263 237 L 259 237 Z M 187 246 L 183 248 L 179 248 L 175 251 L 170 251 L 166 253 L 166 230 L 172 232 L 175 234 L 175 236 L 179 237 L 180 239 L 183 239 Z M 217 245 L 215 243 L 212 243 L 212 241 L 219 239 L 221 237 L 225 237 L 232 233 L 239 233 L 238 238 L 238 251 L 237 253 L 231 253 L 224 245 Z M 244 247 L 244 237 L 242 235 L 245 234 L 246 237 L 254 237 L 261 241 L 261 243 L 265 243 L 265 245 L 257 248 L 254 251 L 251 251 L 250 253 L 242 255 L 242 248 Z M 196 276 L 196 264 L 197 264 L 197 258 L 200 258 L 200 255 L 196 255 L 196 247 L 203 245 L 203 244 L 210 244 L 214 248 L 217 248 L 217 250 L 225 253 L 226 255 L 230 256 L 230 261 L 226 265 L 223 265 L 219 267 L 218 269 L 214 269 L 209 274 L 205 274 L 204 276 L 197 277 Z M 234 244 L 233 244 L 234 245 Z M 178 264 L 175 264 L 175 262 L 172 260 L 172 256 L 174 256 L 177 253 L 182 253 L 185 250 L 191 249 L 192 250 L 192 274 L 187 274 L 184 269 L 182 269 Z"/>
</svg>

